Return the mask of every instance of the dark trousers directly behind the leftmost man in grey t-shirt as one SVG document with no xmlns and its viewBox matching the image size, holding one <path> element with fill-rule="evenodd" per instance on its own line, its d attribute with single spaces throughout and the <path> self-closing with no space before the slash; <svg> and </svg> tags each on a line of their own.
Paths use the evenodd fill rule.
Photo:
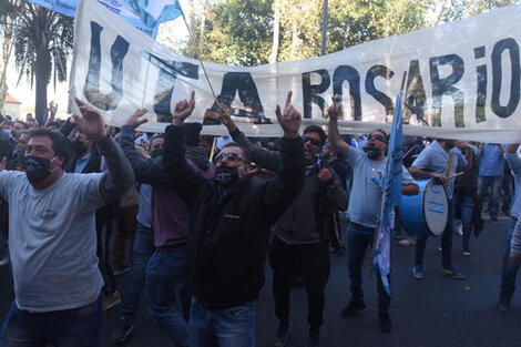
<svg viewBox="0 0 521 347">
<path fill-rule="evenodd" d="M 137 229 L 137 205 L 121 207 L 114 216 L 114 249 L 112 251 L 112 264 L 116 269 L 125 268 L 126 246 L 134 248 L 135 231 Z M 130 263 L 131 259 L 129 259 Z"/>
</svg>

